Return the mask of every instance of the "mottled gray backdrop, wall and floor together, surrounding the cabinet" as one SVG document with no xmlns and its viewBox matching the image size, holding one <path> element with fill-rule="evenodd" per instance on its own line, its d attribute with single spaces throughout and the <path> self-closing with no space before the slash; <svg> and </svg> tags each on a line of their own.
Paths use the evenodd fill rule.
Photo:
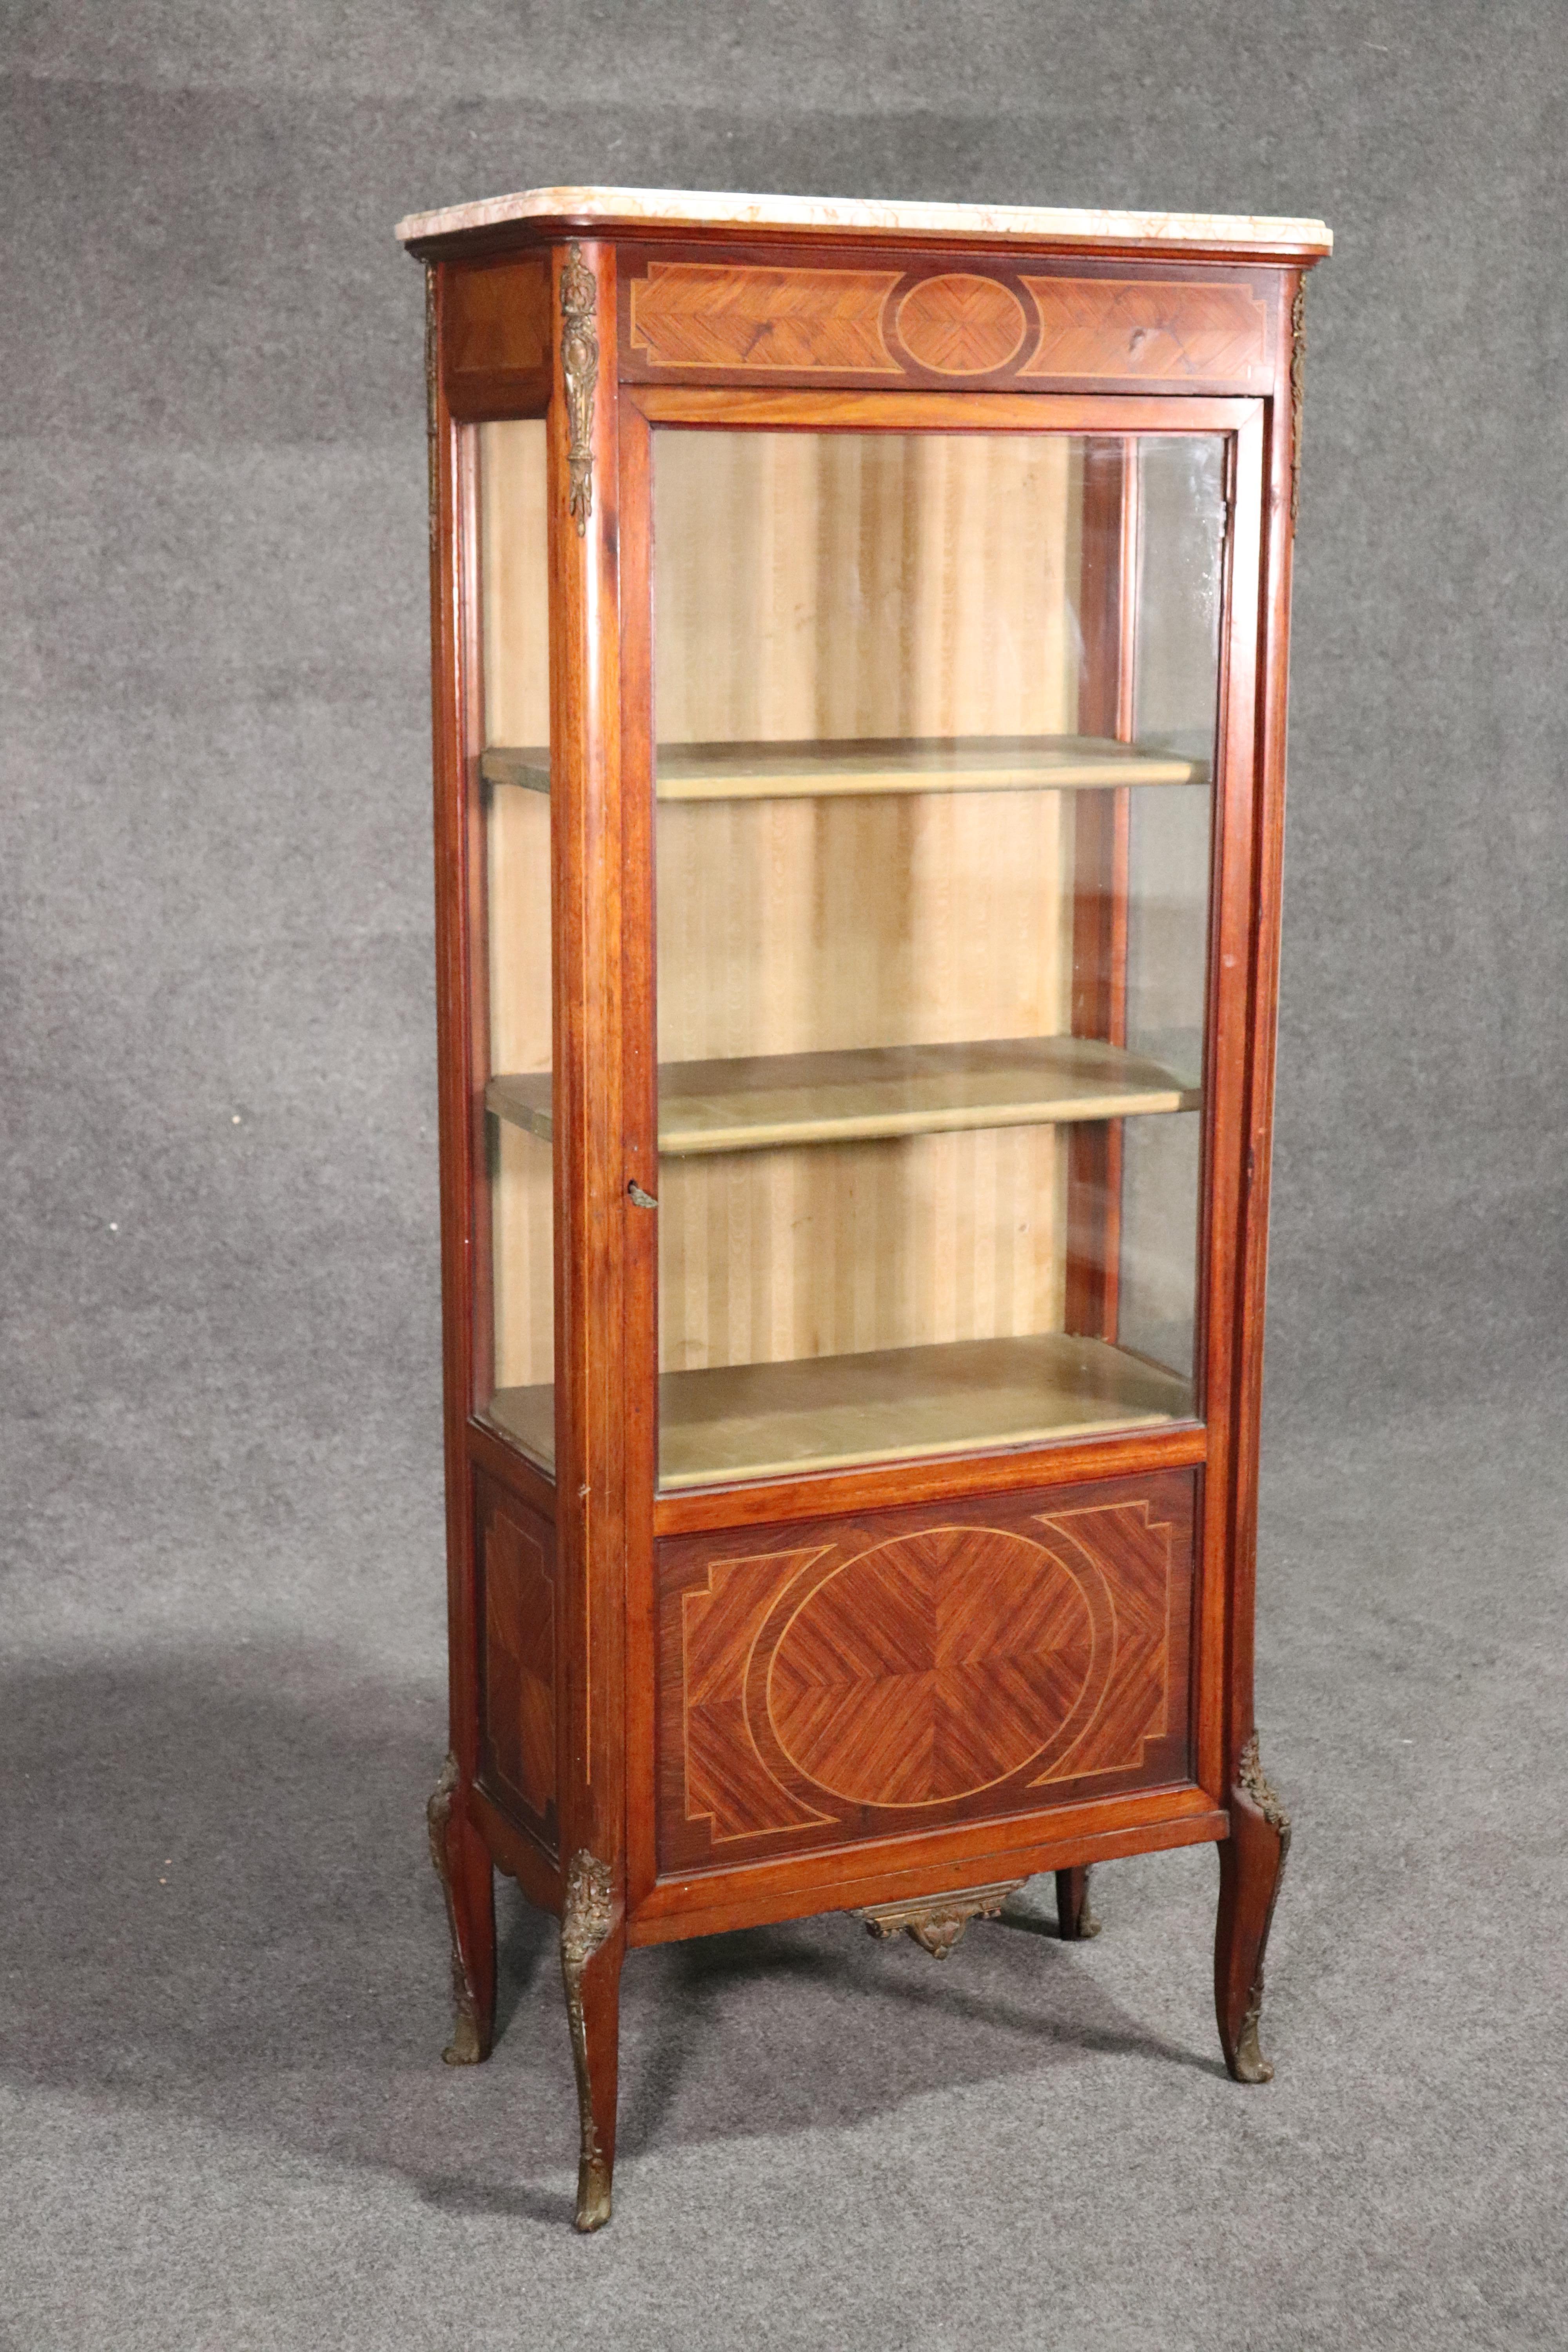
<svg viewBox="0 0 1568 2352">
<path fill-rule="evenodd" d="M 1568 1501 L 1568 16 L 16 0 L 5 52 L 14 2340 L 574 2340 L 592 2305 L 602 2343 L 978 2314 L 1034 2345 L 1044 2310 L 1091 2343 L 1547 2343 L 1561 2126 L 1509 2051 L 1561 2046 L 1561 1856 L 1523 1820 L 1561 1780 Z M 508 1912 L 510 2044 L 433 2070 L 418 1851 L 435 1040 L 390 230 L 550 181 L 1338 233 L 1262 1564 L 1260 1712 L 1309 1823 L 1295 2089 L 1211 2077 L 1199 1860 L 1128 1865 L 1091 1957 L 992 1938 L 969 1983 L 842 1922 L 661 1955 L 595 2256 L 559 2227 L 538 1933 Z"/>
</svg>

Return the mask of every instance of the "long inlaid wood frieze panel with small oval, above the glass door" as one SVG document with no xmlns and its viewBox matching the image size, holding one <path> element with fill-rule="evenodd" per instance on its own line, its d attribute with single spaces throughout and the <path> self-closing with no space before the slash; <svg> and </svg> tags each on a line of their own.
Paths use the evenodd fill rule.
<svg viewBox="0 0 1568 2352">
<path fill-rule="evenodd" d="M 875 386 L 1204 383 L 1269 379 L 1269 308 L 1244 270 L 1060 275 L 1039 263 L 851 256 L 623 259 L 621 367 L 632 381 Z"/>
</svg>

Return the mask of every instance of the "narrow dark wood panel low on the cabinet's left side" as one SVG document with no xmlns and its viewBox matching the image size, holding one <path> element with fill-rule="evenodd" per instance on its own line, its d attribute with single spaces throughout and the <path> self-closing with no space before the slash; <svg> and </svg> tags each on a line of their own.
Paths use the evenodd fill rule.
<svg viewBox="0 0 1568 2352">
<path fill-rule="evenodd" d="M 480 1780 L 555 1853 L 555 1529 L 475 1475 Z"/>
</svg>

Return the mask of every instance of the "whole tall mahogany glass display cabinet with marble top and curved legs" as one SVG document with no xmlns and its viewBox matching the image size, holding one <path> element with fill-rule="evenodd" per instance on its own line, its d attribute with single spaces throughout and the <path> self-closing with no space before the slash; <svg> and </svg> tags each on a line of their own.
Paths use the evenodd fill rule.
<svg viewBox="0 0 1568 2352">
<path fill-rule="evenodd" d="M 423 214 L 451 2060 L 562 1922 L 945 1957 L 1288 1820 L 1253 1524 L 1316 221 Z M 827 2056 L 823 2060 L 830 2063 Z"/>
</svg>

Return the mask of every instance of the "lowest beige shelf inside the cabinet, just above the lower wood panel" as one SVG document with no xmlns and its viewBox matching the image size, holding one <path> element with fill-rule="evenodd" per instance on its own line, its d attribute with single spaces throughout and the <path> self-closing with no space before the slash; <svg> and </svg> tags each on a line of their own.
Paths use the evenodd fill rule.
<svg viewBox="0 0 1568 2352">
<path fill-rule="evenodd" d="M 790 1477 L 1190 1416 L 1190 1381 L 1105 1341 L 1060 1331 L 670 1371 L 658 1383 L 658 1482 Z M 503 1388 L 484 1418 L 534 1461 L 550 1463 L 552 1388 Z"/>
</svg>

